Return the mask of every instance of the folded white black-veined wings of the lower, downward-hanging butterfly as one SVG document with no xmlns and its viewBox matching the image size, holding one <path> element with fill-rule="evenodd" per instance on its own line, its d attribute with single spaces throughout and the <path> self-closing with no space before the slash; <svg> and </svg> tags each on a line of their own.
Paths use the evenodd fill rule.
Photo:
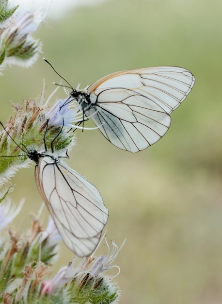
<svg viewBox="0 0 222 304">
<path fill-rule="evenodd" d="M 51 156 L 40 158 L 35 179 L 66 246 L 78 256 L 91 254 L 108 220 L 97 188 Z"/>
</svg>

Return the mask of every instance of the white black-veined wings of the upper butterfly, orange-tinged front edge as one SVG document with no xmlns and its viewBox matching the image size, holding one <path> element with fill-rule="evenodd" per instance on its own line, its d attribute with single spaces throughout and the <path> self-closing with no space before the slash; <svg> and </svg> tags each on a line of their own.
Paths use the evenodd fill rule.
<svg viewBox="0 0 222 304">
<path fill-rule="evenodd" d="M 169 129 L 169 116 L 190 93 L 195 82 L 190 71 L 154 67 L 121 71 L 92 84 L 89 116 L 115 146 L 141 151 Z"/>
</svg>

